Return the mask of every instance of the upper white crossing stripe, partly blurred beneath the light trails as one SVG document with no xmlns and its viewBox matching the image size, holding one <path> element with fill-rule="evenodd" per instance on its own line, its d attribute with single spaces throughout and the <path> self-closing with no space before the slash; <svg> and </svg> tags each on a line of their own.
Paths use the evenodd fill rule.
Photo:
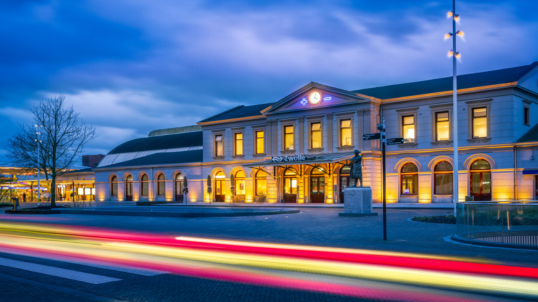
<svg viewBox="0 0 538 302">
<path fill-rule="evenodd" d="M 131 267 L 130 265 L 123 265 L 123 264 L 110 264 L 110 263 L 104 262 L 104 261 L 88 260 L 88 259 L 69 257 L 69 256 L 59 256 L 59 255 L 53 255 L 53 254 L 40 254 L 40 253 L 34 253 L 34 252 L 31 252 L 31 251 L 26 251 L 26 250 L 4 248 L 4 247 L 0 247 L 0 252 L 13 254 L 13 255 L 23 255 L 23 256 L 50 259 L 50 260 L 73 263 L 73 264 L 86 265 L 87 267 L 94 267 L 94 268 L 108 269 L 108 270 L 115 270 L 115 271 L 123 271 L 123 272 L 128 272 L 129 274 L 148 276 L 148 277 L 162 275 L 162 274 L 168 274 L 169 273 L 167 271 L 162 271 L 162 270 L 137 268 L 137 267 Z"/>
</svg>

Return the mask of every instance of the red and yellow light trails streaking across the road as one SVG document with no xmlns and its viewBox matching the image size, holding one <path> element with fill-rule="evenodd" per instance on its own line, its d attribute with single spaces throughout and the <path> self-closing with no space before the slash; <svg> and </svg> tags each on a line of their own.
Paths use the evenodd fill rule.
<svg viewBox="0 0 538 302">
<path fill-rule="evenodd" d="M 364 286 L 365 280 L 538 298 L 538 269 L 473 262 L 470 258 L 186 236 L 174 238 L 15 222 L 0 222 L 0 251 L 2 249 L 366 299 L 470 301 L 433 295 L 428 289 L 376 289 L 375 286 Z M 308 274 L 326 276 L 327 280 L 345 278 L 349 282 L 320 282 L 306 278 Z"/>
</svg>

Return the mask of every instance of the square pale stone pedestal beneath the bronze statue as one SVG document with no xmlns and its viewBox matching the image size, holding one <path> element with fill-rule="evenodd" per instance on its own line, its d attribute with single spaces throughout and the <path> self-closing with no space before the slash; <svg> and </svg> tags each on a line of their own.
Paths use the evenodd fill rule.
<svg viewBox="0 0 538 302">
<path fill-rule="evenodd" d="M 368 186 L 345 188 L 344 200 L 344 213 L 339 213 L 339 216 L 377 216 L 377 213 L 372 212 L 372 188 Z"/>
</svg>

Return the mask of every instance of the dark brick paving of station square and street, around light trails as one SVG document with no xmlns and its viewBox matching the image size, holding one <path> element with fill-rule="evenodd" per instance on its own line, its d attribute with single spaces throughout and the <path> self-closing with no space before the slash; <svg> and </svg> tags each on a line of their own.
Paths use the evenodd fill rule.
<svg viewBox="0 0 538 302">
<path fill-rule="evenodd" d="M 377 210 L 376 210 L 377 211 Z M 342 209 L 301 208 L 301 213 L 270 215 L 267 217 L 235 218 L 136 218 L 107 217 L 85 215 L 48 215 L 47 218 L 32 216 L 32 222 L 51 224 L 95 226 L 115 229 L 130 229 L 144 232 L 156 232 L 172 236 L 200 236 L 204 238 L 235 239 L 275 243 L 293 243 L 300 245 L 317 245 L 332 247 L 349 247 L 374 250 L 405 251 L 409 253 L 463 256 L 495 260 L 502 263 L 538 267 L 537 251 L 519 251 L 469 247 L 443 240 L 455 232 L 454 225 L 425 224 L 410 222 L 407 218 L 422 215 L 441 215 L 449 210 L 391 210 L 388 217 L 388 241 L 383 237 L 382 215 L 364 218 L 341 218 Z M 380 212 L 380 211 L 378 211 Z M 51 216 L 54 218 L 51 219 Z M 8 220 L 7 215 L 0 215 L 0 220 Z M 21 219 L 16 219 L 21 221 Z M 96 293 L 105 297 L 115 297 L 125 301 L 365 301 L 358 298 L 337 294 L 289 290 L 214 281 L 177 275 L 138 276 L 124 272 L 110 271 L 84 265 L 58 262 L 46 259 L 2 254 L 0 257 L 20 261 L 51 265 L 90 274 L 120 278 L 122 281 L 99 285 L 46 276 L 42 274 L 0 267 L 0 273 L 35 282 L 62 286 L 84 292 Z M 300 274 L 300 273 L 297 273 Z M 312 275 L 310 275 L 312 277 Z M 337 277 L 316 277 L 329 281 Z M 5 281 L 0 277 L 0 301 L 87 301 L 67 293 L 39 288 L 27 293 L 27 286 L 15 281 Z M 339 282 L 344 282 L 340 279 Z M 395 285 L 383 282 L 360 281 L 362 284 L 380 289 L 417 290 L 413 286 Z M 23 290 L 26 289 L 26 290 Z M 422 289 L 423 290 L 423 289 Z M 20 298 L 23 291 L 24 298 Z M 445 296 L 474 297 L 479 295 L 428 289 Z M 18 293 L 18 296 L 17 296 Z M 43 300 L 37 297 L 46 297 Z M 52 298 L 51 298 L 52 297 Z M 58 298 L 55 298 L 58 297 Z M 50 298 L 50 299 L 49 299 Z M 63 299 L 63 300 L 62 300 Z M 78 300 L 77 300 L 78 299 Z M 398 297 L 394 297 L 398 300 Z M 484 297 L 482 297 L 484 299 Z M 486 297 L 493 300 L 493 297 Z M 504 300 L 495 298 L 495 300 Z"/>
</svg>

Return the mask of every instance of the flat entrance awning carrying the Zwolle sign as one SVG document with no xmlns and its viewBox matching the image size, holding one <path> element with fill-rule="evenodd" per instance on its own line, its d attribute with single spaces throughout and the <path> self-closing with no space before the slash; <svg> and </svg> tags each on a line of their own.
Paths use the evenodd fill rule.
<svg viewBox="0 0 538 302">
<path fill-rule="evenodd" d="M 244 164 L 243 167 L 289 166 L 292 164 L 337 163 L 351 159 L 355 153 L 330 153 L 319 155 L 275 156 L 270 160 Z"/>
</svg>

